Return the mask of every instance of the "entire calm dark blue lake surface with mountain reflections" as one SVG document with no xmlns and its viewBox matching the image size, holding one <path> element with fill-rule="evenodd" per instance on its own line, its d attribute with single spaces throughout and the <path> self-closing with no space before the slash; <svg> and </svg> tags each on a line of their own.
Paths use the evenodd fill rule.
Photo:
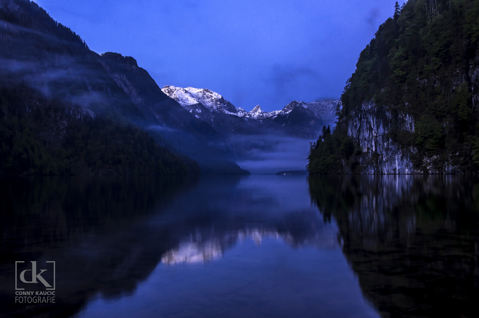
<svg viewBox="0 0 479 318">
<path fill-rule="evenodd" d="M 0 188 L 1 317 L 479 316 L 475 177 L 38 178 Z M 36 273 L 55 261 L 55 304 L 15 303 L 15 282 L 46 290 L 16 276 L 30 261 Z"/>
</svg>

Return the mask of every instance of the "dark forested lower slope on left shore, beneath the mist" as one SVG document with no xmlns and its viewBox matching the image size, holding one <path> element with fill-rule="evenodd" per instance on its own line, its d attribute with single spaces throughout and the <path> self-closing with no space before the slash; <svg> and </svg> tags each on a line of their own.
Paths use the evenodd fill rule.
<svg viewBox="0 0 479 318">
<path fill-rule="evenodd" d="M 132 124 L 92 117 L 25 87 L 0 89 L 0 175 L 199 173 L 189 166 Z"/>
</svg>

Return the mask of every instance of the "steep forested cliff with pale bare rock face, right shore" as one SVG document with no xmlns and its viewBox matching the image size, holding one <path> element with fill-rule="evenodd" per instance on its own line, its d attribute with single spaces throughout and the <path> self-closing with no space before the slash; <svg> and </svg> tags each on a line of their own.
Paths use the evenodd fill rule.
<svg viewBox="0 0 479 318">
<path fill-rule="evenodd" d="M 405 173 L 476 172 L 478 39 L 478 0 L 396 4 L 346 83 L 335 131 L 312 145 L 310 173 L 396 173 L 408 162 Z"/>
</svg>

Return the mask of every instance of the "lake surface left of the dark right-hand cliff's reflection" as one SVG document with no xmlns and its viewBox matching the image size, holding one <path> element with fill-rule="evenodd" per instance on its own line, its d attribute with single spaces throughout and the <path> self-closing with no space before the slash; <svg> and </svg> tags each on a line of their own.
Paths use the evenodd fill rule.
<svg viewBox="0 0 479 318">
<path fill-rule="evenodd" d="M 305 176 L 4 179 L 0 190 L 0 316 L 377 317 Z M 56 304 L 14 303 L 14 263 L 30 260 L 56 261 Z"/>
</svg>

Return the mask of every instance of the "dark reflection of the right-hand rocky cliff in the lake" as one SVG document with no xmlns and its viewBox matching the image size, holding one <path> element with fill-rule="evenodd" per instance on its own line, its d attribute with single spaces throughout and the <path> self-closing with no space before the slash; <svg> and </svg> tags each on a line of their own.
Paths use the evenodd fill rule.
<svg viewBox="0 0 479 318">
<path fill-rule="evenodd" d="M 311 177 L 383 317 L 477 317 L 479 183 L 464 176 Z"/>
</svg>

